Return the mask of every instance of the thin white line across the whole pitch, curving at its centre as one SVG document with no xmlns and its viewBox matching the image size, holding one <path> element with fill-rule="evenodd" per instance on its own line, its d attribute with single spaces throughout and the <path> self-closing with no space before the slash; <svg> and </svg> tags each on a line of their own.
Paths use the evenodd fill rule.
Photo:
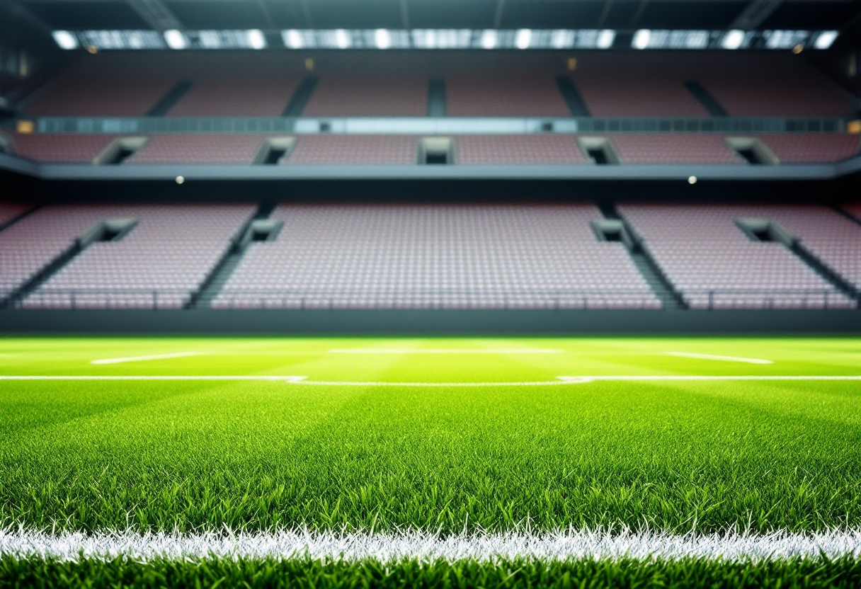
<svg viewBox="0 0 861 589">
<path fill-rule="evenodd" d="M 281 375 L 0 375 L 0 381 L 269 381 L 316 387 L 552 387 L 599 381 L 861 381 L 861 375 L 580 375 L 555 381 L 309 381 Z"/>
</svg>

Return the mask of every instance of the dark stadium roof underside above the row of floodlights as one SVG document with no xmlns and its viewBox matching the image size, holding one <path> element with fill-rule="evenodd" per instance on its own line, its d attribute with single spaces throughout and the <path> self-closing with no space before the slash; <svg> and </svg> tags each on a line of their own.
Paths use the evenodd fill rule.
<svg viewBox="0 0 861 589">
<path fill-rule="evenodd" d="M 858 0 L 9 0 L 46 29 L 837 30 Z"/>
</svg>

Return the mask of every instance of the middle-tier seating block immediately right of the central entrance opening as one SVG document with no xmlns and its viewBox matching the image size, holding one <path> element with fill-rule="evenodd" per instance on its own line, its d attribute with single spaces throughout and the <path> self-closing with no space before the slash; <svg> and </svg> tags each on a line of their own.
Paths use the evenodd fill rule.
<svg viewBox="0 0 861 589">
<path fill-rule="evenodd" d="M 461 135 L 457 164 L 591 164 L 571 135 Z"/>
</svg>

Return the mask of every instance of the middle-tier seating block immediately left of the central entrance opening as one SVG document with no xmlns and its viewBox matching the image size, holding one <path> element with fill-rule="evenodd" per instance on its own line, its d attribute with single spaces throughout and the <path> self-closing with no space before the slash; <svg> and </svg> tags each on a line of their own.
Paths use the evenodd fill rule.
<svg viewBox="0 0 861 589">
<path fill-rule="evenodd" d="M 300 135 L 285 164 L 416 164 L 418 138 L 405 135 Z"/>
</svg>

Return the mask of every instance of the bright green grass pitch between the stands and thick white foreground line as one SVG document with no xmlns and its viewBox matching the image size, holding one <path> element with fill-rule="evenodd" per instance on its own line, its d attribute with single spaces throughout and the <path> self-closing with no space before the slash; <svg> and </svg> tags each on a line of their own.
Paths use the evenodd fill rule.
<svg viewBox="0 0 861 589">
<path fill-rule="evenodd" d="M 858 338 L 0 340 L 0 377 L 27 375 L 122 378 L 0 381 L 5 526 L 861 528 L 861 381 L 660 380 L 858 376 Z M 558 378 L 583 375 L 658 380 Z M 0 578 L 21 567 L 71 565 Z"/>
</svg>

